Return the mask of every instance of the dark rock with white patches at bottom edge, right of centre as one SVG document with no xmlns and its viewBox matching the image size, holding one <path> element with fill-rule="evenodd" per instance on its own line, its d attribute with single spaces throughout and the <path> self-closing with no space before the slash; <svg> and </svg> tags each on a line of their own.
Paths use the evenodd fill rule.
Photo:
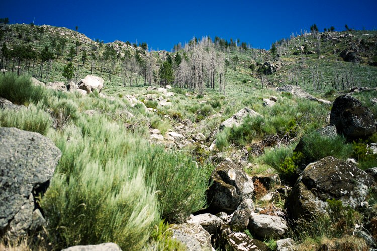
<svg viewBox="0 0 377 251">
<path fill-rule="evenodd" d="M 226 237 L 226 250 L 231 251 L 268 251 L 263 242 L 250 239 L 245 233 L 232 233 Z"/>
</svg>

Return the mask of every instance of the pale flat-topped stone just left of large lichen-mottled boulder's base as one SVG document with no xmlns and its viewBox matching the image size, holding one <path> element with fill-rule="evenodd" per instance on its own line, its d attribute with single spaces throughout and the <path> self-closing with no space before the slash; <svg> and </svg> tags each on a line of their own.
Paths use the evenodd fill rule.
<svg viewBox="0 0 377 251">
<path fill-rule="evenodd" d="M 253 214 L 250 218 L 249 229 L 253 236 L 264 240 L 281 237 L 288 231 L 287 222 L 278 216 Z"/>
</svg>

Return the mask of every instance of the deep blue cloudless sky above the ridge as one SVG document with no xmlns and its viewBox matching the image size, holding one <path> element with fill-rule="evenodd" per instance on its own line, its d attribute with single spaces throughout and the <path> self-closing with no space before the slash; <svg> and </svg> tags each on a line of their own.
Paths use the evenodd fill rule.
<svg viewBox="0 0 377 251">
<path fill-rule="evenodd" d="M 314 23 L 320 31 L 377 29 L 377 0 L 358 1 L 1 1 L 0 17 L 10 23 L 63 26 L 91 39 L 138 43 L 170 51 L 194 35 L 230 38 L 269 49 L 272 42 Z"/>
</svg>

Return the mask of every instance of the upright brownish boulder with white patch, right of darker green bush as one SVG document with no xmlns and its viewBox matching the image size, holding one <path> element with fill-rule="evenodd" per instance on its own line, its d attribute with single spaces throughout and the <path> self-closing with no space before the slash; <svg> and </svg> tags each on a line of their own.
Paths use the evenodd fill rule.
<svg viewBox="0 0 377 251">
<path fill-rule="evenodd" d="M 253 181 L 245 171 L 227 161 L 221 162 L 212 172 L 210 184 L 207 202 L 216 213 L 232 213 L 241 201 L 250 199 L 254 191 Z"/>
</svg>

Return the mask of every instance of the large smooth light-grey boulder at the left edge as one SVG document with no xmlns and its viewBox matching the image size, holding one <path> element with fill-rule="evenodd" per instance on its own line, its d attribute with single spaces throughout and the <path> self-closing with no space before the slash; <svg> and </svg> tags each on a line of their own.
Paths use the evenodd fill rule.
<svg viewBox="0 0 377 251">
<path fill-rule="evenodd" d="M 0 128 L 0 145 L 0 232 L 17 237 L 33 224 L 32 192 L 46 186 L 61 152 L 41 134 L 16 128 Z"/>
</svg>

